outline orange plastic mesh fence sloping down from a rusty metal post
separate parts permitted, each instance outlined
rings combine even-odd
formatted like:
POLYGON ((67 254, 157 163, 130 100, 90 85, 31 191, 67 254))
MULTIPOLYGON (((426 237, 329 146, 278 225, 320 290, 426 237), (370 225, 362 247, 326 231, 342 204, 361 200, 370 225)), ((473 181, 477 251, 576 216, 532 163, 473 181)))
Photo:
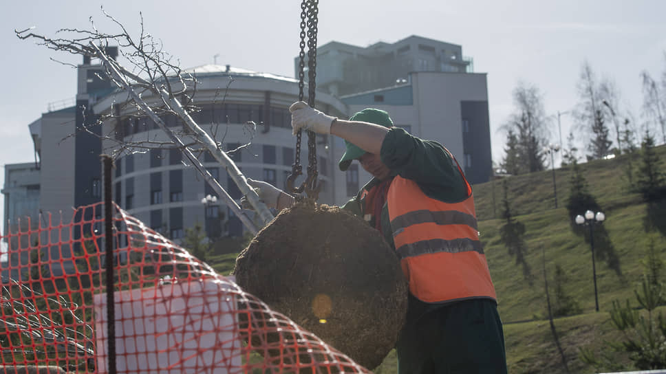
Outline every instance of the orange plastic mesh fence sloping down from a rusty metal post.
MULTIPOLYGON (((17 222, 2 268, 3 366, 107 373, 103 203, 17 222), (34 226, 32 225, 34 223, 34 226)), ((118 373, 368 373, 114 205, 118 373)))

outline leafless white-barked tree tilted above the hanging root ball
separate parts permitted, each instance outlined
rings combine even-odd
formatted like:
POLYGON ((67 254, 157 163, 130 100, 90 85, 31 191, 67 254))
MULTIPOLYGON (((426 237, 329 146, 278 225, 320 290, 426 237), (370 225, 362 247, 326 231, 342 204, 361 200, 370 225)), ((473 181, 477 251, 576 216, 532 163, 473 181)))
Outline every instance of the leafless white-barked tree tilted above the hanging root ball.
MULTIPOLYGON (((169 141, 152 142, 150 139, 144 139, 127 143, 125 140, 118 140, 114 133, 103 133, 101 135, 103 139, 114 142, 119 151, 145 150, 164 146, 180 148, 189 163, 241 219, 246 228, 256 234, 257 227, 253 220, 208 173, 197 157, 202 151, 210 153, 226 168, 228 175, 241 193, 247 197, 250 205, 259 213, 264 224, 273 218, 266 205, 259 200, 257 192, 247 184, 246 177, 228 154, 222 151, 221 143, 214 139, 214 134, 204 131, 193 120, 191 115, 198 110, 192 104, 192 98, 197 90, 195 75, 181 69, 178 60, 164 52, 161 41, 145 32, 142 17, 140 18, 140 32, 136 38, 133 38, 122 23, 103 9, 102 12, 106 19, 116 25, 118 32, 114 34, 100 32, 92 19, 90 30, 65 28, 58 30, 57 37, 54 38, 34 34, 31 29, 15 30, 15 32, 20 39, 34 39, 37 44, 50 50, 98 59, 105 68, 106 77, 121 89, 125 96, 117 94, 111 114, 102 115, 95 126, 101 126, 105 121, 113 119, 122 109, 129 106, 133 107, 136 115, 150 118, 159 129, 167 134, 169 141), (120 47, 125 65, 108 53, 109 45, 120 47), (167 126, 164 121, 169 116, 178 118, 178 126, 167 126)), ((87 130, 89 131, 89 129, 87 130)), ((91 131, 91 133, 94 132, 91 131)))

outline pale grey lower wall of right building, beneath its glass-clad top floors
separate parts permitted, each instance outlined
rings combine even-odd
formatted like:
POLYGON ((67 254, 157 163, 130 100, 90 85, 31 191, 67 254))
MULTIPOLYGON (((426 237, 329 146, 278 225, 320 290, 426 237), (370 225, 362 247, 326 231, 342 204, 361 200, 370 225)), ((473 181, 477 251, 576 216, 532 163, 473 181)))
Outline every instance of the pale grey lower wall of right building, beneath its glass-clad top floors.
MULTIPOLYGON (((470 183, 488 181, 492 160, 486 75, 413 72, 409 77, 411 98, 396 95, 397 90, 406 91, 405 87, 345 96, 343 101, 349 105, 350 113, 367 107, 387 111, 396 126, 446 146, 470 183), (469 133, 464 133, 463 120, 468 122, 469 133), (466 168, 466 159, 471 160, 469 168, 466 168)), ((370 175, 363 170, 359 175, 363 186, 370 175)), ((338 186, 341 183, 343 181, 339 181, 338 186)))

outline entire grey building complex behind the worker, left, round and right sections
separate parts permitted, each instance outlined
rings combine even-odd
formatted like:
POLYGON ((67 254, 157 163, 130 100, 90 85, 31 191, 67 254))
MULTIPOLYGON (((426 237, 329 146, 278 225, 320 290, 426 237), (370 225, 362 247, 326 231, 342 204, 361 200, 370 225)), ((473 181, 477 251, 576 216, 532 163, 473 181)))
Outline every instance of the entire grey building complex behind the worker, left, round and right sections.
MULTIPOLYGON (((109 52, 117 54, 114 49, 109 52)), ((62 211, 67 219, 72 208, 100 201, 103 191, 98 155, 113 153, 118 141, 167 141, 162 131, 147 118, 137 116, 131 106, 114 113, 120 118, 105 122, 104 129, 89 126, 99 115, 110 113, 114 100, 117 103, 122 98, 109 81, 100 79, 102 69, 84 58, 78 66, 73 105, 44 113, 30 125, 39 155, 39 173, 34 174, 38 177, 33 175, 39 178, 35 184, 39 185, 39 192, 30 187, 32 201, 34 194, 39 194, 36 211, 62 211), (98 137, 102 133, 115 134, 115 140, 103 144, 98 137)), ((460 45, 419 36, 366 48, 331 42, 319 47, 316 69, 318 109, 341 118, 365 107, 385 109, 396 125, 447 146, 472 183, 488 180, 491 151, 486 76, 469 73, 471 60, 462 57, 460 45)), ((225 150, 248 144, 232 155, 246 176, 284 188, 294 161, 295 140, 288 107, 297 100, 297 80, 228 65, 204 65, 191 72, 196 72, 199 80, 193 104, 200 111, 193 115, 195 120, 216 134, 225 150), (229 85, 230 80, 233 82, 229 85), (249 126, 247 121, 256 126, 249 126)), ((178 123, 167 118, 167 124, 178 123)), ((319 136, 317 143, 323 182, 319 201, 344 203, 369 175, 358 165, 346 175, 339 173, 337 160, 344 151, 342 140, 319 136)), ((305 144, 304 135, 304 169, 308 164, 305 144)), ((202 153, 202 157, 220 184, 239 199, 224 168, 207 153, 202 153)), ((211 237, 239 234, 239 220, 222 201, 202 203, 203 197, 214 195, 213 190, 185 164, 180 151, 167 145, 149 151, 122 152, 116 159, 114 199, 173 239, 197 222, 211 237)), ((12 170, 12 166, 6 170, 12 170)), ((8 184, 10 180, 6 177, 3 188, 9 201, 19 197, 18 192, 11 192, 14 190, 8 184)), ((28 196, 28 187, 22 188, 21 194, 28 196)), ((14 217, 11 214, 24 214, 10 214, 7 209, 5 221, 14 217)))

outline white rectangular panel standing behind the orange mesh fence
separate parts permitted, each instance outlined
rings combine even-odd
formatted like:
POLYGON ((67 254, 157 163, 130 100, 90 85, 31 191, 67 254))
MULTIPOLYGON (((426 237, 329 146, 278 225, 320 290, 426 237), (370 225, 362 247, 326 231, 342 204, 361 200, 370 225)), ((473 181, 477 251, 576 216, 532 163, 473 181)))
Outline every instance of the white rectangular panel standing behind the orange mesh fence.
MULTIPOLYGON (((242 373, 235 296, 215 279, 116 292, 118 373, 242 373)), ((107 295, 94 297, 97 371, 107 373, 107 295)))

